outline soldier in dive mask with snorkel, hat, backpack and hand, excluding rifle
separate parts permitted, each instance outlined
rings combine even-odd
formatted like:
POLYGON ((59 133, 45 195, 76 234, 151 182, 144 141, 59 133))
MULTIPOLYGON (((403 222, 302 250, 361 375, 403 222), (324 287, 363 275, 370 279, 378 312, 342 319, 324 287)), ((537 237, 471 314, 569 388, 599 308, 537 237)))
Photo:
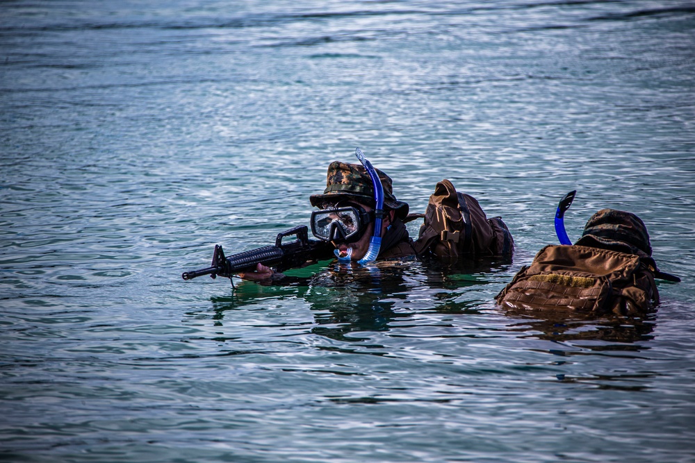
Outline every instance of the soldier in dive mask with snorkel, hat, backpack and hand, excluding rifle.
MULTIPOLYGON (((338 262, 365 265, 432 256, 453 264, 459 255, 512 255, 514 240, 502 219, 487 219, 475 198, 456 192, 449 180, 437 183, 425 214, 409 214, 409 205, 393 194, 391 177, 375 169, 359 149, 355 155, 361 165, 332 162, 324 192, 309 197, 320 208, 311 214, 311 232, 334 246, 338 262), (417 218, 424 223, 413 240, 405 224, 417 218)), ((284 278, 263 264, 238 276, 266 283, 284 278)))

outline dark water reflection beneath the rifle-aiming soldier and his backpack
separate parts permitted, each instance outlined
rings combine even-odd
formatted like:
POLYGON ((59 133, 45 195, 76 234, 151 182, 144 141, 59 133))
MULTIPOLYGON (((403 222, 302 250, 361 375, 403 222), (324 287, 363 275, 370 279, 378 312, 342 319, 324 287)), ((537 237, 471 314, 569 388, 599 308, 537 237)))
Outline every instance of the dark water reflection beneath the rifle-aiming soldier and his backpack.
POLYGON ((313 276, 291 280, 290 285, 237 283, 229 296, 211 298, 213 319, 221 325, 228 310, 265 310, 268 301, 297 298, 311 309, 316 323, 311 333, 341 342, 361 341, 367 336, 359 332, 388 331, 394 322, 398 328, 409 328, 408 321, 423 313, 480 313, 480 301, 471 301, 466 292, 489 285, 489 271, 498 264, 493 260, 455 266, 416 260, 378 262, 372 267, 333 263, 313 276))

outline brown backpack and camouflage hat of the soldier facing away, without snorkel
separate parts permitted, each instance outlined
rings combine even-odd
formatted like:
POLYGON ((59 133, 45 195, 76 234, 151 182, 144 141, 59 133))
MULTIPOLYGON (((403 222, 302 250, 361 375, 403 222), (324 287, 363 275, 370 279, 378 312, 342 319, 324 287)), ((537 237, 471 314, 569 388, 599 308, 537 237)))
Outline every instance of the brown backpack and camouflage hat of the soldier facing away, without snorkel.
POLYGON ((680 281, 657 269, 644 222, 631 212, 592 215, 573 246, 546 246, 497 302, 511 310, 644 314, 659 303, 654 279, 680 281))

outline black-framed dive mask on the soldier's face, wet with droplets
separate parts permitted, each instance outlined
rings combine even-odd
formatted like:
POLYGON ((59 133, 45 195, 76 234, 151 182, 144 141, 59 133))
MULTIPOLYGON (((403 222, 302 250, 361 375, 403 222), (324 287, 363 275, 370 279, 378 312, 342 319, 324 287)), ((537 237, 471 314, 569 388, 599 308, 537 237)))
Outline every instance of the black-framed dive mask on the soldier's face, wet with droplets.
POLYGON ((373 213, 359 205, 311 212, 311 233, 334 243, 354 243, 364 235, 373 213))

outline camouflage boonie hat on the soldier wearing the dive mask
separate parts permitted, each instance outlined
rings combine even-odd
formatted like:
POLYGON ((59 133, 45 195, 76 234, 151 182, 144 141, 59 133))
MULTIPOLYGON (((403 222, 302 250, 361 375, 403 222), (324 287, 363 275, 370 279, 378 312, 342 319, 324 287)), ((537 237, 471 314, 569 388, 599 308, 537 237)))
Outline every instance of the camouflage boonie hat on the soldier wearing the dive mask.
MULTIPOLYGON (((382 187, 384 187, 384 205, 395 210, 396 217, 403 219, 408 215, 408 204, 398 201, 393 196, 391 177, 379 169, 375 169, 375 171, 377 171, 379 180, 382 180, 382 187)), ((340 161, 331 162, 328 166, 326 189, 323 194, 309 196, 311 205, 316 207, 323 207, 326 203, 335 203, 341 199, 352 199, 371 208, 376 206, 372 179, 361 165, 340 161)))

